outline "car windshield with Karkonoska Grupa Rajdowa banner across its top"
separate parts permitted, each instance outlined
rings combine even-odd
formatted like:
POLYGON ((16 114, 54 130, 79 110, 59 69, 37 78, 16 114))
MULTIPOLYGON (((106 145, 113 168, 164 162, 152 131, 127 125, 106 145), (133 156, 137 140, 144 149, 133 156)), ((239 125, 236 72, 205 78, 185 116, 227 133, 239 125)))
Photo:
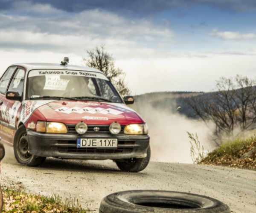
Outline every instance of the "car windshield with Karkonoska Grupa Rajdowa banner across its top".
POLYGON ((30 71, 26 98, 73 98, 122 103, 118 92, 105 75, 73 70, 30 71))

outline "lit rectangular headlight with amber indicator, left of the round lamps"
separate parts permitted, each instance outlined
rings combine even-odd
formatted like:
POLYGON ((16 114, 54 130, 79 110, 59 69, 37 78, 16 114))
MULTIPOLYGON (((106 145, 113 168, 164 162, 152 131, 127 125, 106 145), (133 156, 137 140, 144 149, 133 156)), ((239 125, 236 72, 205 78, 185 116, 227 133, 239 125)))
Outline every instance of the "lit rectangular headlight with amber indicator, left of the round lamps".
POLYGON ((67 127, 65 124, 59 122, 38 121, 36 123, 36 131, 47 133, 67 133, 67 127))

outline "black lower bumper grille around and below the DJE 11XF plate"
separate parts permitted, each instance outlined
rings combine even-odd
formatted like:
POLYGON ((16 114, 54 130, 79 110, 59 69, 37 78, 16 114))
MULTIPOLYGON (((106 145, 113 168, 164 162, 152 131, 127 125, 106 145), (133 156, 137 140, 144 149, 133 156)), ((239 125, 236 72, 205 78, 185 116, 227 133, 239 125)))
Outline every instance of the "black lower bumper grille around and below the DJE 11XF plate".
POLYGON ((61 153, 131 153, 134 150, 132 145, 135 144, 135 141, 118 141, 118 146, 115 149, 113 148, 77 148, 76 140, 70 141, 57 141, 60 145, 58 151, 61 153), (65 147, 61 147, 61 144, 65 144, 65 147), (68 146, 67 144, 70 144, 68 146), (131 145, 131 147, 122 147, 122 145, 131 145))

